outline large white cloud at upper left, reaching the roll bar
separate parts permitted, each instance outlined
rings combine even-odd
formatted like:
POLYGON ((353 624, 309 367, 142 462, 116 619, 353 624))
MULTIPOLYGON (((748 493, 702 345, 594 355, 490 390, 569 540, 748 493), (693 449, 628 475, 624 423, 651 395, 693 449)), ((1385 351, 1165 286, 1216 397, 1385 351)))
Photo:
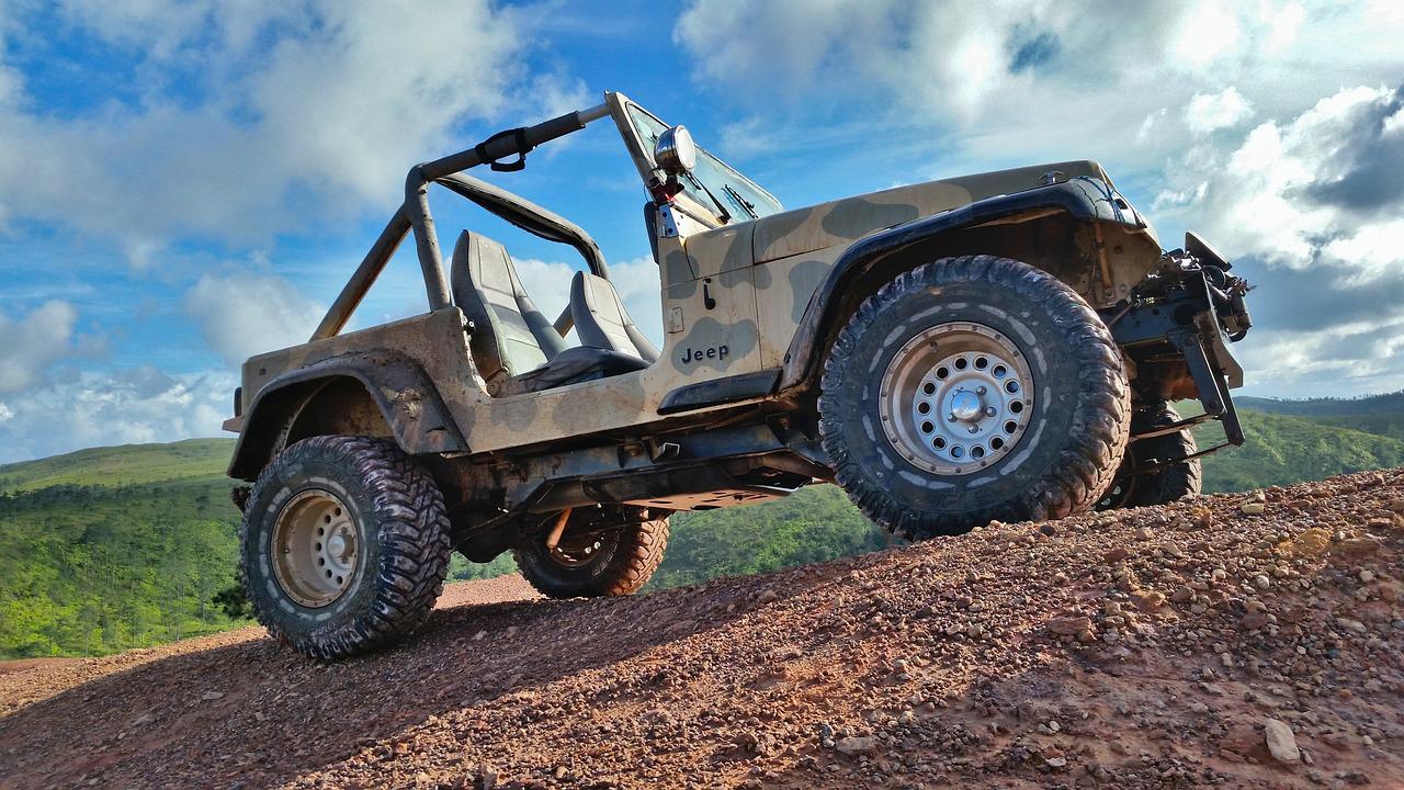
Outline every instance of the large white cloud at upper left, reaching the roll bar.
POLYGON ((65 8, 138 55, 140 101, 51 114, 0 69, 0 216, 111 238, 138 264, 173 236, 263 242, 388 211, 411 163, 526 93, 522 31, 487 0, 65 8))

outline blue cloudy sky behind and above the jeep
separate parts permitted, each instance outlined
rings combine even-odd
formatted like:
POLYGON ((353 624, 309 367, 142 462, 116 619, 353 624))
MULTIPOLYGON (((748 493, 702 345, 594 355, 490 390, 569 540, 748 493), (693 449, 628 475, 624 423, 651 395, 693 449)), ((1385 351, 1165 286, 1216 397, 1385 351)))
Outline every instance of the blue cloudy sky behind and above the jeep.
MULTIPOLYGON (((616 90, 802 207, 1097 159, 1257 285, 1247 394, 1404 388, 1404 3, 0 0, 0 462, 220 436, 416 162, 616 90)), ((475 171, 475 174, 477 174, 475 171)), ((608 124, 486 177, 584 226, 660 332, 608 124)), ((501 240, 543 312, 578 257, 501 240)), ((423 312, 406 245, 352 326, 423 312)))

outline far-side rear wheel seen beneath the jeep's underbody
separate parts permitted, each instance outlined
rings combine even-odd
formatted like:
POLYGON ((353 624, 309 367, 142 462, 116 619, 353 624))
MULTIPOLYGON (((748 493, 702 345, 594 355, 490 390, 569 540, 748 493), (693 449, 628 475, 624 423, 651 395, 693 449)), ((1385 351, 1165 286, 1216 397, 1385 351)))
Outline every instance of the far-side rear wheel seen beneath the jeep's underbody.
POLYGON ((658 569, 668 548, 668 520, 566 533, 556 550, 545 536, 512 550, 517 568, 546 597, 630 595, 658 569))

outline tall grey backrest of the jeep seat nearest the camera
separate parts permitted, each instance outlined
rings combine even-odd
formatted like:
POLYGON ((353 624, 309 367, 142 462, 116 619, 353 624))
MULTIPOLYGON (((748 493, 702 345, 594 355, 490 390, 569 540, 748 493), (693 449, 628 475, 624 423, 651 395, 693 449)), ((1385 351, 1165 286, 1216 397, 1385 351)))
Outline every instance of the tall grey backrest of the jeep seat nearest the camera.
POLYGON ((453 246, 453 301, 473 323, 469 347, 486 381, 541 367, 566 344, 522 288, 503 245, 463 231, 453 246))

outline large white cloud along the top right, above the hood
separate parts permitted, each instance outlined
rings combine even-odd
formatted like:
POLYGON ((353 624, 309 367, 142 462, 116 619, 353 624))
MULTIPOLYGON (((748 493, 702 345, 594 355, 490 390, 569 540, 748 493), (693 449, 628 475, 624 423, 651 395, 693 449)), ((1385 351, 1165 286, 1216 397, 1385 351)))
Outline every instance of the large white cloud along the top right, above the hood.
POLYGON ((1097 156, 1120 173, 1188 145, 1185 129, 1157 122, 1161 107, 1237 94, 1259 117, 1296 114, 1342 84, 1397 82, 1401 37, 1404 14, 1389 3, 1273 0, 1031 0, 979 13, 956 0, 826 0, 803 14, 695 0, 674 28, 696 84, 781 139, 861 121, 889 146, 925 141, 938 164, 1097 156))

